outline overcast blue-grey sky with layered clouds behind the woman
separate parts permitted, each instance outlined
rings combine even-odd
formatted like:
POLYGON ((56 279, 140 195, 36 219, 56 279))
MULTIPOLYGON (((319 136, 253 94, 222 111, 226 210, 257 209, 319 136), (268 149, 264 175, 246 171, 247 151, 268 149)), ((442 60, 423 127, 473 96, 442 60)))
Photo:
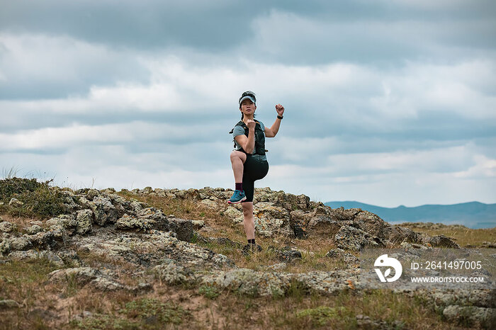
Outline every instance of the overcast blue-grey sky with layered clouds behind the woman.
POLYGON ((385 207, 496 203, 493 0, 0 0, 0 168, 72 188, 256 186, 385 207))

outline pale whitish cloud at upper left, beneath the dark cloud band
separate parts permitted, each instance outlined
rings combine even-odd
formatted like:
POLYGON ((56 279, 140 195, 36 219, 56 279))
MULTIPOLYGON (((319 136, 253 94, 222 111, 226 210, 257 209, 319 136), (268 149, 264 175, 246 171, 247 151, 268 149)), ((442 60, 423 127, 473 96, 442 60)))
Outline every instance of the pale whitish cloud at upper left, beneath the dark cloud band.
POLYGON ((66 98, 84 95, 93 85, 145 82, 150 76, 136 54, 71 38, 0 33, 0 46, 0 99, 66 98))

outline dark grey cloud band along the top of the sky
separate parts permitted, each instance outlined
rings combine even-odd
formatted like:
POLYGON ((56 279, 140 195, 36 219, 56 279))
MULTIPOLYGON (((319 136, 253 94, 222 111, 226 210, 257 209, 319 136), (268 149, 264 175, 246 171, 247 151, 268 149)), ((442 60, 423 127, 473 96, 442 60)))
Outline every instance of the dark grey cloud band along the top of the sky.
MULTIPOLYGON (((69 34, 91 42, 142 49, 185 45, 214 53, 247 42, 257 32, 251 30, 252 20, 271 11, 337 23, 375 19, 395 22, 422 16, 428 21, 441 20, 440 27, 442 21, 455 18, 469 27, 481 18, 492 21, 496 7, 490 0, 434 6, 434 9, 363 0, 258 0, 250 4, 245 1, 119 1, 118 6, 114 1, 2 2, 0 28, 3 30, 69 34)), ((361 32, 368 33, 367 30, 361 32)), ((381 41, 370 37, 365 36, 361 41, 381 41)))

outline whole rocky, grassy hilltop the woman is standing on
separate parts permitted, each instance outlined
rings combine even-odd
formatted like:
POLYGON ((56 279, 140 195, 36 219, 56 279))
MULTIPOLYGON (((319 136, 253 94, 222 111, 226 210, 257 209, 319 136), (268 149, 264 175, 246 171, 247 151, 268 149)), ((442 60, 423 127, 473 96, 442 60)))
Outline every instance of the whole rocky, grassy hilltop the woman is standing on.
POLYGON ((208 300, 221 296, 215 313, 226 326, 248 319, 243 313, 227 319, 222 309, 232 306, 223 304, 231 302, 239 308, 249 299, 266 306, 265 312, 252 311, 259 317, 257 324, 247 326, 253 329, 269 326, 271 318, 282 326, 301 328, 339 324, 394 329, 427 322, 443 329, 460 322, 472 326, 494 322, 495 290, 439 285, 432 291, 410 284, 384 294, 375 273, 361 270, 362 249, 398 248, 403 254, 436 246, 460 250, 449 237, 393 226, 366 210, 332 209, 305 195, 257 188, 254 215, 263 251, 246 256, 241 249, 245 240, 241 206, 225 203, 231 194, 230 189, 209 187, 116 192, 49 187, 22 179, 0 181, 4 264, 0 280, 11 278, 9 269, 23 269, 23 275, 17 275, 23 278, 33 270, 30 265, 37 265, 41 283, 27 278, 23 285, 33 292, 45 291, 26 297, 22 290, 13 290, 14 282, 4 282, 0 294, 9 298, 4 304, 11 307, 0 312, 2 318, 9 324, 26 322, 14 311, 28 320, 36 309, 42 315, 40 322, 55 327, 154 328, 168 323, 202 329, 203 321, 195 320, 207 319, 208 300), (40 198, 47 195, 50 200, 40 198), (29 216, 17 216, 23 212, 29 216), (45 271, 40 273, 41 269, 45 271), (96 292, 102 304, 113 307, 85 298, 96 292), (178 295, 201 303, 191 305, 178 295), (232 302, 239 296, 242 300, 232 302), (346 298, 325 305, 335 297, 346 298), (395 309, 396 316, 363 307, 369 299, 395 309), (393 303, 398 300, 403 303, 393 303), (149 307, 140 309, 143 304, 149 307), (283 310, 297 309, 299 314, 284 319, 274 304, 283 310), (155 310, 154 319, 145 314, 150 308, 155 310), (317 321, 315 315, 322 310, 327 317, 317 321), (408 317, 412 310, 415 315, 408 317))

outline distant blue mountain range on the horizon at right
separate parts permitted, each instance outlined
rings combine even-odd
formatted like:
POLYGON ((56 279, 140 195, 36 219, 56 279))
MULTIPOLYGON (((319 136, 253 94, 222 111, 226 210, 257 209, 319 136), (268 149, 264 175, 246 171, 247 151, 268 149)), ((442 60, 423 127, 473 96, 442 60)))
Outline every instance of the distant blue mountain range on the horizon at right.
POLYGON ((469 228, 496 227, 496 204, 479 202, 453 205, 422 205, 416 207, 381 207, 359 202, 327 202, 332 208, 361 208, 375 213, 383 220, 396 224, 401 222, 441 222, 463 224, 469 228))

